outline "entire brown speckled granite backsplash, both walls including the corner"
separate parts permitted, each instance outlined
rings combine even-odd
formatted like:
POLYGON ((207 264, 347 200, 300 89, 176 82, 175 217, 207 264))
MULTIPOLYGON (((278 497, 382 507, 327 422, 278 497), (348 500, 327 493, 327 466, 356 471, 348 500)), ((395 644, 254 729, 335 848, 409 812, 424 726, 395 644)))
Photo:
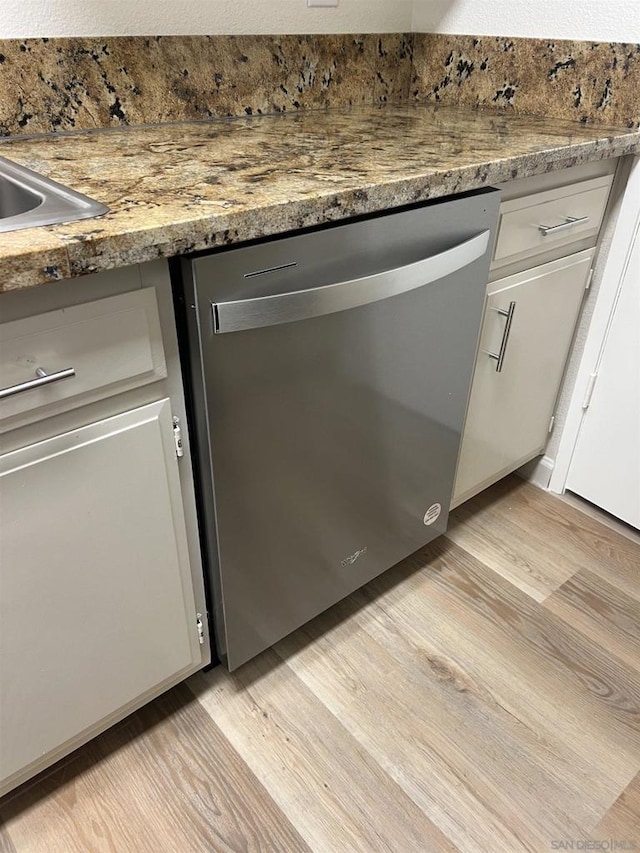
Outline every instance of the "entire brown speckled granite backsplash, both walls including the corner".
POLYGON ((640 45, 387 33, 0 40, 0 136, 406 100, 640 125, 640 45))

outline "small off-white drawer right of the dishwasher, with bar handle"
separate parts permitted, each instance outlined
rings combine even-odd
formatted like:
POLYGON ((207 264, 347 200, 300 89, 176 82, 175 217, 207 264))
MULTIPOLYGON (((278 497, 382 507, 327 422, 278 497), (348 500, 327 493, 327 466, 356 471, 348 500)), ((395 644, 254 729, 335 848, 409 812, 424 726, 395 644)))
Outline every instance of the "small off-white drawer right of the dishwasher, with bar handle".
POLYGON ((595 246, 613 175, 503 202, 494 265, 592 238, 595 246))

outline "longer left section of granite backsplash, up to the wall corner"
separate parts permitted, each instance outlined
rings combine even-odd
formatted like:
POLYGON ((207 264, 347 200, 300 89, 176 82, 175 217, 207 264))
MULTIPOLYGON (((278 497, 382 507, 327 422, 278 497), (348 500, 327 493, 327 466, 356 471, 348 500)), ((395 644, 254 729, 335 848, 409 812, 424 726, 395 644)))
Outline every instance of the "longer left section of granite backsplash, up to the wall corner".
POLYGON ((0 40, 0 136, 405 100, 412 35, 0 40))

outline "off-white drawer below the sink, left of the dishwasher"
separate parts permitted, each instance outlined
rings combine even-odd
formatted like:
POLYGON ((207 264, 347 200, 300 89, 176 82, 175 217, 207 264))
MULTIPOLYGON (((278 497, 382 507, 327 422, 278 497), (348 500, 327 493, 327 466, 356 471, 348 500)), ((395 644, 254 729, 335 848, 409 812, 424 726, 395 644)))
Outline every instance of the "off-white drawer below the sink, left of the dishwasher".
POLYGON ((0 431, 166 375, 153 288, 5 323, 0 431))

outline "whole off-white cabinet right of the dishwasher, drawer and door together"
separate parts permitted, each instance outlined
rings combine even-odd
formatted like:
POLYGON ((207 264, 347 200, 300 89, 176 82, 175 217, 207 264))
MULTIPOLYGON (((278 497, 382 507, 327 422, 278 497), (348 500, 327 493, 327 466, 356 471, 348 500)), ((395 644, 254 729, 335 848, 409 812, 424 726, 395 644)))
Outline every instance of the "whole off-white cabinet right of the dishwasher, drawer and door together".
POLYGON ((500 186, 452 507, 547 445, 616 168, 598 161, 500 186))

